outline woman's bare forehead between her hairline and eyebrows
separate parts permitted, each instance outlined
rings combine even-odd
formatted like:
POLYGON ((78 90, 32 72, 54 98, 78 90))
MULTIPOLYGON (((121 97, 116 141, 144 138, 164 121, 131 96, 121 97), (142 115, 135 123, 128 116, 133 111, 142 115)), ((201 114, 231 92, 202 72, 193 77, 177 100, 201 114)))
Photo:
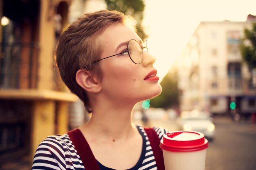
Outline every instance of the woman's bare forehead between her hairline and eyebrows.
POLYGON ((134 30, 121 23, 109 25, 99 36, 100 44, 102 46, 106 45, 107 48, 110 48, 110 46, 116 48, 120 43, 129 41, 130 39, 141 41, 134 30))

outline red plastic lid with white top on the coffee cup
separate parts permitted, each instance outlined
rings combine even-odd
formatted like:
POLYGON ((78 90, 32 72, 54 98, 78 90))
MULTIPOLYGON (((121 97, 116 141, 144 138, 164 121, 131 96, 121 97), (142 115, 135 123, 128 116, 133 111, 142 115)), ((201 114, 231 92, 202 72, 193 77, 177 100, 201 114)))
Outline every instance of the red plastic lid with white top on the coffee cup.
POLYGON ((172 152, 192 152, 208 147, 204 134, 195 131, 174 131, 166 133, 160 141, 160 148, 172 152))

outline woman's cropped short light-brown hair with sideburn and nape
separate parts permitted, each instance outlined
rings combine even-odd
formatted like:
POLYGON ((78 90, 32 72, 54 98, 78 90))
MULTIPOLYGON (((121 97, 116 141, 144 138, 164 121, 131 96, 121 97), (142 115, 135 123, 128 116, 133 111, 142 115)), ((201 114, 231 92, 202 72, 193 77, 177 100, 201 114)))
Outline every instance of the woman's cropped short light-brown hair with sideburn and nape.
POLYGON ((93 61, 99 59, 101 48, 97 37, 101 31, 113 23, 126 24, 128 16, 117 11, 101 10, 86 13, 74 21, 61 34, 56 48, 56 63, 64 83, 84 103, 88 112, 90 101, 85 89, 76 82, 76 72, 87 68, 92 75, 101 79, 101 68, 93 61))

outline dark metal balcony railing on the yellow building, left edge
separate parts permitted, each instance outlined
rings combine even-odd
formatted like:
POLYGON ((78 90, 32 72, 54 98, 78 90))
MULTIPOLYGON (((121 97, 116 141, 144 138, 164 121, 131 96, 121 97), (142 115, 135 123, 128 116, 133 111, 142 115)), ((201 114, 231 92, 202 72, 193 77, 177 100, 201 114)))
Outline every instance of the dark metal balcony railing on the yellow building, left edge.
POLYGON ((13 42, 0 45, 0 88, 36 88, 39 44, 13 42))

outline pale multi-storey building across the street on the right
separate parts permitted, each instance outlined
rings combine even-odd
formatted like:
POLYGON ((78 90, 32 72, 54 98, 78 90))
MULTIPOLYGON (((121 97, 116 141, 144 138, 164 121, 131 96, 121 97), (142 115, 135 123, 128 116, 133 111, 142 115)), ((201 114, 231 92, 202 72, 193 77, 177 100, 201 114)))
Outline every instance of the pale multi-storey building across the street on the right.
POLYGON ((251 28, 252 22, 254 17, 199 24, 178 61, 181 111, 239 116, 256 111, 256 87, 239 47, 244 28, 251 28))

